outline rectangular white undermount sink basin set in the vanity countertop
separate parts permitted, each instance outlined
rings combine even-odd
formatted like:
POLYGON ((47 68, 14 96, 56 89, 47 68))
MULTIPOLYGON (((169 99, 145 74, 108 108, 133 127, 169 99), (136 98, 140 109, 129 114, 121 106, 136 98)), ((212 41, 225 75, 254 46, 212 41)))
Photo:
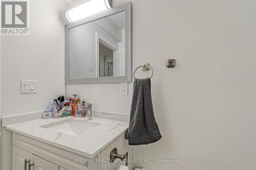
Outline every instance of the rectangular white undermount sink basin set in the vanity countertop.
POLYGON ((99 126, 98 123, 88 122, 86 120, 66 119, 55 123, 40 126, 55 132, 65 133, 68 135, 78 135, 89 129, 99 126))

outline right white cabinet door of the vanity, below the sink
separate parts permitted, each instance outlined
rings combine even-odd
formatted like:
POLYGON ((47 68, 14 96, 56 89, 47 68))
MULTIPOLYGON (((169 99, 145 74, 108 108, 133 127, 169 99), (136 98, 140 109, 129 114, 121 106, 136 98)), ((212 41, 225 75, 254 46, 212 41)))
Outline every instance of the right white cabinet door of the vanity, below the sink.
POLYGON ((45 159, 39 158, 35 155, 32 155, 31 170, 58 170, 59 166, 51 162, 48 162, 45 159))

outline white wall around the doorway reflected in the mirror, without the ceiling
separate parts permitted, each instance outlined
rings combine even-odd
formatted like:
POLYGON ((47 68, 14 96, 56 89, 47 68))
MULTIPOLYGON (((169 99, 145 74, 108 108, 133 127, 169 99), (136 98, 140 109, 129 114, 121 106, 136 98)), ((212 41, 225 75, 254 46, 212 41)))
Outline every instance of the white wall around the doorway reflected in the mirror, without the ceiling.
POLYGON ((113 35, 105 33, 93 22, 70 29, 70 78, 95 78, 97 76, 96 33, 108 40, 107 42, 118 46, 118 42, 115 41, 113 35), (89 71, 90 69, 92 72, 89 71))

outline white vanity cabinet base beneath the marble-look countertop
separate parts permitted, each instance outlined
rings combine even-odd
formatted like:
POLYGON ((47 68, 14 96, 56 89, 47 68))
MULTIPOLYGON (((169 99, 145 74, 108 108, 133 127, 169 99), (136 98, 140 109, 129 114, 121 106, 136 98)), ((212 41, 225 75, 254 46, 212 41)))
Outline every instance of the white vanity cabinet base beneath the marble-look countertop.
MULTIPOLYGON (((12 170, 117 170, 124 163, 105 161, 110 159, 110 153, 114 148, 117 148, 120 155, 128 152, 129 159, 133 159, 134 148, 128 145, 124 134, 91 159, 13 132, 12 170), (26 160, 30 162, 25 163, 26 160), (77 160, 94 160, 94 163, 77 162, 77 160)), ((133 169, 133 164, 129 163, 129 169, 133 169)))

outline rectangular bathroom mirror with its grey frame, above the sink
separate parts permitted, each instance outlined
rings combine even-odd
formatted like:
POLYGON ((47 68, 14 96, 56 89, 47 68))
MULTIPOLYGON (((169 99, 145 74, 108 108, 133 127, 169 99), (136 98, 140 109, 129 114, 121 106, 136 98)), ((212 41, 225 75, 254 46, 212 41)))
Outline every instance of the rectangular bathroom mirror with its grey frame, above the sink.
POLYGON ((66 25, 66 84, 132 81, 131 3, 66 25))

